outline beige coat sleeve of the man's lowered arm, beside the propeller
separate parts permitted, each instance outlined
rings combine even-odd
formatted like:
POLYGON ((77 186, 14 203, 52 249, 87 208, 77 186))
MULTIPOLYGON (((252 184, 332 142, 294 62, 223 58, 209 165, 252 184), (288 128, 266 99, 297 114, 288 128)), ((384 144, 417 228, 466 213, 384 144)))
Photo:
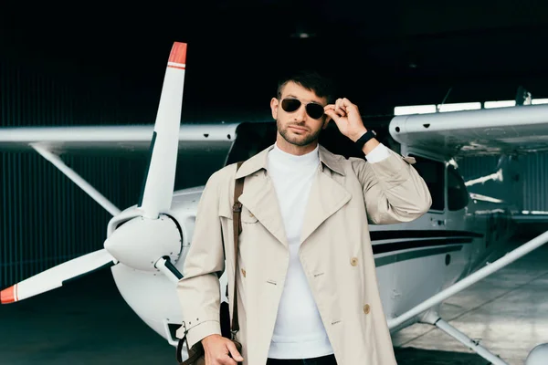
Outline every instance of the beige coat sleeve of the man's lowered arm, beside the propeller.
POLYGON ((225 270, 225 255, 218 214, 219 184, 217 172, 205 184, 192 244, 184 259, 183 278, 177 283, 183 326, 176 335, 181 339, 186 330, 191 348, 206 336, 221 334, 219 277, 225 270))

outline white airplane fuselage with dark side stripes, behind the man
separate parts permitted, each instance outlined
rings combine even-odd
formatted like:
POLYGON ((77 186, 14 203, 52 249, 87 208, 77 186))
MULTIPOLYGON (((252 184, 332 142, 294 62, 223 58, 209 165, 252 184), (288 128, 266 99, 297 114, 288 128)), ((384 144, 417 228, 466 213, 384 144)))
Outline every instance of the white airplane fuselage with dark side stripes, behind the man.
MULTIPOLYGON (((174 193, 169 214, 182 224, 183 252, 176 266, 183 271, 184 256, 190 248, 197 203, 203 186, 174 193)), ((500 248, 511 236, 511 211, 501 203, 476 202, 470 199, 467 212, 430 211, 411 223, 370 225, 374 245, 375 264, 385 314, 395 317, 415 307, 442 288, 466 276, 493 250, 500 248), (506 212, 501 214, 500 212, 506 212), (469 219, 465 214, 470 214, 469 219), (491 226, 508 226, 490 232, 491 226), (450 231, 450 232, 449 232, 450 231), (490 235, 487 234, 490 232, 490 235), (496 242, 486 243, 486 237, 498 235, 496 242), (449 257, 449 258, 448 258, 449 257)), ((136 206, 124 213, 131 214, 136 206)), ((114 232, 111 221, 109 234, 114 232)), ((492 238, 491 238, 492 239, 492 238)), ((158 273, 135 270, 122 264, 112 266, 112 275, 121 296, 132 309, 158 334, 173 345, 177 339, 174 330, 181 326, 179 298, 174 284, 158 273), (139 283, 139 284, 136 284, 139 283), (143 297, 143 293, 147 293, 143 297)), ((220 278, 221 288, 227 285, 227 276, 220 278)), ((225 291, 221 289, 224 301, 225 291)), ((399 330, 415 323, 406 323, 399 330)))

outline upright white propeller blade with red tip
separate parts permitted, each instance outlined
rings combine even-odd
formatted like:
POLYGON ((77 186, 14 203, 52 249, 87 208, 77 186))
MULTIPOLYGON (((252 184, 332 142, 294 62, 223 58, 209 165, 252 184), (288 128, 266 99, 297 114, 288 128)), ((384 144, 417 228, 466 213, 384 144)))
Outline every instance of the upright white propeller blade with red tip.
POLYGON ((171 208, 179 147, 185 62, 186 43, 175 42, 163 78, 162 95, 151 141, 151 160, 138 204, 146 218, 156 219, 158 214, 171 208))

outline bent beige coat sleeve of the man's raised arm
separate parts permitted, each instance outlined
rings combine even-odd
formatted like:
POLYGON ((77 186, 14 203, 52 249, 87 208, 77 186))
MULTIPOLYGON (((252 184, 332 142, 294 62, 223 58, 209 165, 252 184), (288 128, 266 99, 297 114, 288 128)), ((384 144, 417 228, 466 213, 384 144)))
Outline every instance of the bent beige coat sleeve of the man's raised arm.
POLYGON ((432 204, 427 184, 410 159, 388 151, 390 156, 380 162, 352 159, 371 224, 410 222, 427 213, 432 204))

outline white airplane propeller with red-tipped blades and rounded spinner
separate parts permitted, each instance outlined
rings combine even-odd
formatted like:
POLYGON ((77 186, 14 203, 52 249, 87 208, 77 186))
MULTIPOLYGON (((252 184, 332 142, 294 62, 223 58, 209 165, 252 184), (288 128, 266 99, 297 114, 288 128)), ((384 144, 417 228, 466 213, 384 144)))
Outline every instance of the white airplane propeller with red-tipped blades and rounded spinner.
MULTIPOLYGON (((177 150, 184 89, 186 44, 174 42, 165 76, 151 141, 150 162, 142 194, 131 219, 105 241, 104 248, 31 276, 0 292, 2 304, 34 297, 78 276, 118 264, 144 271, 160 270, 172 281, 182 277, 174 267, 181 252, 182 234, 172 216, 177 150)), ((121 220, 127 212, 111 219, 121 220)))

